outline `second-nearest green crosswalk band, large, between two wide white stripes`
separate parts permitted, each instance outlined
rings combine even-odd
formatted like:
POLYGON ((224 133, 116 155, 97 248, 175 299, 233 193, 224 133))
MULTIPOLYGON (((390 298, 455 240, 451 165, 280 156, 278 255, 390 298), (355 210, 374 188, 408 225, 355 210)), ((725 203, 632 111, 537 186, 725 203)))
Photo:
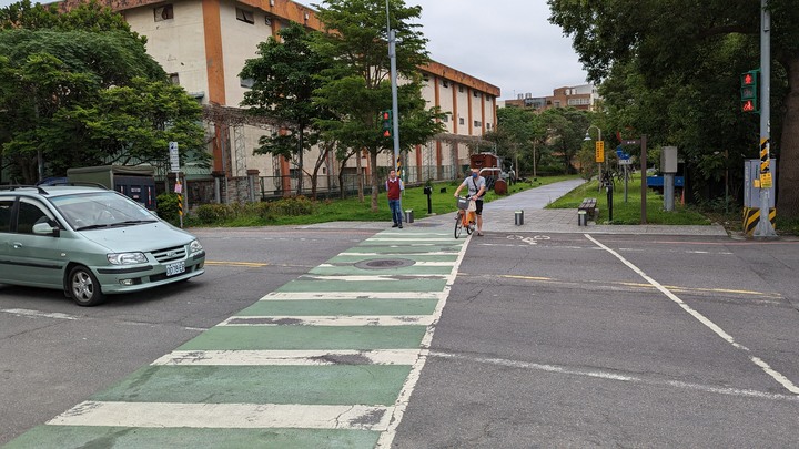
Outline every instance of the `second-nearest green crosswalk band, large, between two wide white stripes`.
POLYGON ((388 406, 409 371, 405 365, 146 366, 91 400, 388 406))

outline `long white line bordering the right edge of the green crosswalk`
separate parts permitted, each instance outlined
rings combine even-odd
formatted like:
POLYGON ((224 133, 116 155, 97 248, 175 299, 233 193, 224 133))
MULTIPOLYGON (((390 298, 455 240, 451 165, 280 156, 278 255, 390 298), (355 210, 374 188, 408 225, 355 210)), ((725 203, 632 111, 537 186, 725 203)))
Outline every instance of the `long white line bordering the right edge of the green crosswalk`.
POLYGON ((455 263, 455 266, 447 276, 446 286, 444 287, 444 292, 442 292, 438 303, 436 304, 435 312, 433 313, 433 324, 427 327, 427 331, 422 338, 422 351, 419 353, 419 357, 411 368, 411 373, 408 374, 407 379, 405 379, 405 384, 403 385, 402 390, 400 390, 400 396, 397 397, 396 402, 394 402, 394 410, 391 415, 388 428, 383 433, 381 433, 380 438, 377 439, 376 448, 390 449, 392 447, 392 443, 394 442, 396 430, 400 427, 400 422, 402 422, 403 416, 405 415, 405 409, 407 408, 408 401, 411 400, 411 395, 413 394, 413 390, 416 387, 416 382, 418 381, 419 376, 422 376, 422 369, 427 361, 427 355, 429 354, 429 345, 433 341, 433 333, 435 331, 436 324, 441 319, 447 297, 449 296, 452 286, 455 283, 455 278, 457 277, 458 267, 461 266, 461 263, 466 255, 466 248, 468 247, 472 239, 469 238, 464 242, 464 245, 458 253, 457 262, 455 263))

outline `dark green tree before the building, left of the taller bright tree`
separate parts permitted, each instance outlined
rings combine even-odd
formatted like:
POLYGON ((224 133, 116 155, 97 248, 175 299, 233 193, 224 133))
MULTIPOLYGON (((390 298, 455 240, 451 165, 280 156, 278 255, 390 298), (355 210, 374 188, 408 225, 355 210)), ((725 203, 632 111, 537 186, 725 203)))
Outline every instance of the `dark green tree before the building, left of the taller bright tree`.
MULTIPOLYGON (((259 58, 244 63, 241 78, 253 80, 253 86, 244 93, 242 106, 250 114, 281 120, 290 132, 261 136, 256 154, 282 155, 294 160, 300 173, 304 173, 305 152, 318 143, 320 130, 316 119, 327 119, 330 113, 313 101, 313 92, 322 85, 317 76, 328 67, 310 44, 305 29, 291 22, 280 32, 281 40, 269 38, 259 44, 259 58)), ((321 145, 320 157, 311 173, 312 195, 316 196, 316 180, 330 145, 321 145)), ((297 194, 303 190, 303 176, 297 182, 297 194)))

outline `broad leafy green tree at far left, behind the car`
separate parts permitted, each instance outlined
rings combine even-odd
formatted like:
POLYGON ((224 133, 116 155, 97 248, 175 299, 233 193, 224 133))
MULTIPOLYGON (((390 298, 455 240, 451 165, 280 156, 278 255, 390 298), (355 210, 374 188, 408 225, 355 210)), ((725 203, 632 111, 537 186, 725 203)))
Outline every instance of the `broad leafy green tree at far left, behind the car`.
POLYGON ((202 149, 196 102, 166 83, 144 40, 108 8, 0 9, 0 145, 22 182, 43 175, 41 161, 63 175, 121 157, 160 162, 169 140, 184 157, 202 149))

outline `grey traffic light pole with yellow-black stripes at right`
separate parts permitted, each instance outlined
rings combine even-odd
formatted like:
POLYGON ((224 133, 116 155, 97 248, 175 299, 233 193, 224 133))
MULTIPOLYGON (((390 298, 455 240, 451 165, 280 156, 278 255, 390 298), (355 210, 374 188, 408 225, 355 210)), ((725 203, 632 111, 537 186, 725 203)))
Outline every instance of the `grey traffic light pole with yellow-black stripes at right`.
POLYGON ((771 180, 769 171, 771 145, 771 13, 766 8, 767 0, 760 0, 760 221, 755 228, 755 237, 777 236, 771 226, 769 186, 763 185, 763 175, 771 180))

